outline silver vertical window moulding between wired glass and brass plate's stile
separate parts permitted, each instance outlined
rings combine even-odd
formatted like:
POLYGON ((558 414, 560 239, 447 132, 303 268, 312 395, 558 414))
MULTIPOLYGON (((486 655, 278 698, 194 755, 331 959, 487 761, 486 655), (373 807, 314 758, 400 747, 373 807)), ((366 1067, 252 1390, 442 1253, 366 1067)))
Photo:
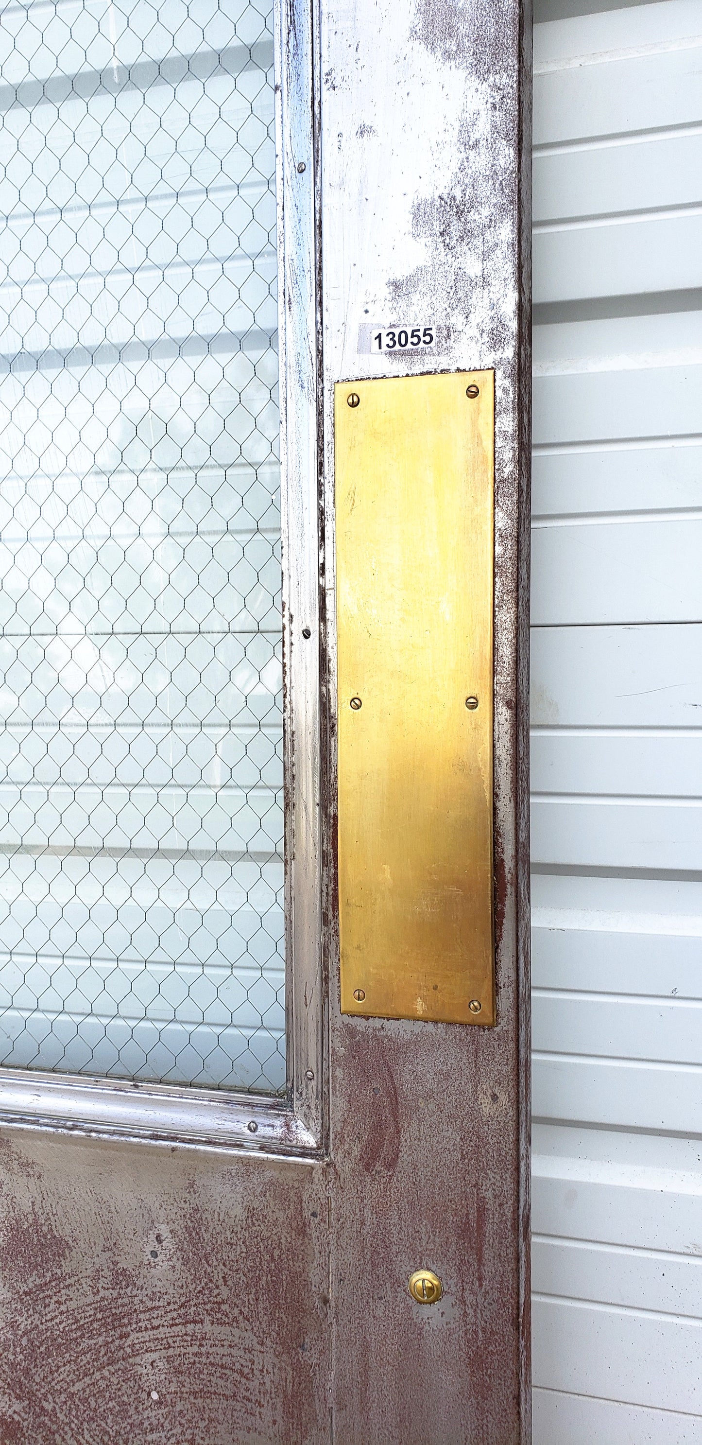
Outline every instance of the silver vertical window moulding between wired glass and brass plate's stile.
POLYGON ((276 0, 287 1090, 325 1114, 321 877, 318 88, 312 4, 276 0))

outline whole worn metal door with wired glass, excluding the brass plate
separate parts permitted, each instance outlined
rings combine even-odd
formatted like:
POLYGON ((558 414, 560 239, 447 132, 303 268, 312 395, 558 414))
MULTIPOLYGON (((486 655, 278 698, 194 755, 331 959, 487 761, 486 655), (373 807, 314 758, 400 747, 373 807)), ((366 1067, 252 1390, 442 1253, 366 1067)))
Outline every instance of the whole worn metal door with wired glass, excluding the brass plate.
POLYGON ((524 1442, 530 16, 3 29, 1 1438, 524 1442), (461 373, 494 1023, 339 994, 334 393, 461 373))

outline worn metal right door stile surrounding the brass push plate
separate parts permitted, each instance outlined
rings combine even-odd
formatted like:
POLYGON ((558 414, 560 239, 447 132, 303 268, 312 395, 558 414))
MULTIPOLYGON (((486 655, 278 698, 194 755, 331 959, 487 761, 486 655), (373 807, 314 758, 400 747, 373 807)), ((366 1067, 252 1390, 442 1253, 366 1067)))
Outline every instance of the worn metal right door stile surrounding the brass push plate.
MULTIPOLYGON (((527 27, 517 0, 332 0, 322 22, 328 483, 335 380, 494 367, 497 410, 498 1022, 341 1016, 329 945, 332 1403, 342 1445, 530 1439, 527 27), (433 322, 442 348, 432 367, 407 353, 358 353, 363 322, 433 322), (410 1299, 417 1266, 443 1280, 441 1303, 410 1299)), ((331 637, 332 559, 329 522, 331 637)), ((331 744, 334 798, 334 721, 331 744)))

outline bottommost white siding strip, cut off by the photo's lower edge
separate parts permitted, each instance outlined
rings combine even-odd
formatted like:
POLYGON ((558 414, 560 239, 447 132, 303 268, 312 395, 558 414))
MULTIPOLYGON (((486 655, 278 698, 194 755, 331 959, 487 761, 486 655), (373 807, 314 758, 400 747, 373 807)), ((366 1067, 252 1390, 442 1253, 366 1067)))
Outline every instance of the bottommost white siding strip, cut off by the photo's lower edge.
POLYGON ((534 1445, 702 1445, 702 1419, 677 1410, 536 1389, 534 1445))

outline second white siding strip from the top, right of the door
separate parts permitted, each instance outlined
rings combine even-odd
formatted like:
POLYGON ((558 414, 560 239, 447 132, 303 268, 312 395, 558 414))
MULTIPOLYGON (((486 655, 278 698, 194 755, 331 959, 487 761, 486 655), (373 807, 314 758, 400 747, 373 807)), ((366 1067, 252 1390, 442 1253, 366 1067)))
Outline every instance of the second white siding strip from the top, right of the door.
MULTIPOLYGON (((637 19, 644 9, 634 12, 637 19)), ((634 26, 630 20, 630 45, 631 36, 636 43, 634 26)), ((701 68, 702 43, 536 74, 534 144, 693 124, 699 120, 701 68)))

